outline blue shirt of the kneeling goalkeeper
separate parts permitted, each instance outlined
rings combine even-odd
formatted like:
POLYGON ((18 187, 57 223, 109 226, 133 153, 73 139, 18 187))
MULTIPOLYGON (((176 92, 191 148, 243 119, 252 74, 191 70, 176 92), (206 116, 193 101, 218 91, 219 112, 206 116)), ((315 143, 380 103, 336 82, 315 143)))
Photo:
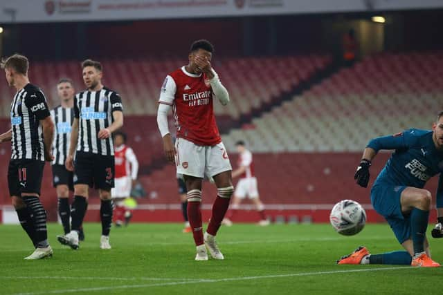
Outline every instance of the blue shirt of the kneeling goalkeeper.
MULTIPOLYGON (((386 149, 395 150, 376 184, 417 187, 443 171, 443 152, 435 148, 433 131, 409 129, 395 135, 377 137, 368 143, 376 152, 386 149)), ((443 176, 440 174, 437 189, 437 207, 443 207, 443 176)))

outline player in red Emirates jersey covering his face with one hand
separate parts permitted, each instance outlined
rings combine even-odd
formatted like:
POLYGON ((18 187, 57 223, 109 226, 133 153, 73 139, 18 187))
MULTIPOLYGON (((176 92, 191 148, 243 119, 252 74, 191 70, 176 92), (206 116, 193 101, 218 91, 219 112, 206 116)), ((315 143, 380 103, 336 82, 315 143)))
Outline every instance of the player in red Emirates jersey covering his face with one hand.
POLYGON ((234 189, 230 175, 232 167, 213 111, 214 98, 226 105, 229 94, 210 64, 213 52, 214 47, 207 40, 192 44, 188 66, 174 70, 163 82, 157 113, 166 157, 176 164, 177 173, 183 175, 188 189, 188 218, 197 246, 195 260, 208 260, 206 247, 213 258, 224 259, 215 235, 234 189), (177 127, 175 146, 168 129, 170 108, 177 127), (208 229, 203 234, 200 205, 201 183, 205 175, 214 179, 217 198, 208 229))

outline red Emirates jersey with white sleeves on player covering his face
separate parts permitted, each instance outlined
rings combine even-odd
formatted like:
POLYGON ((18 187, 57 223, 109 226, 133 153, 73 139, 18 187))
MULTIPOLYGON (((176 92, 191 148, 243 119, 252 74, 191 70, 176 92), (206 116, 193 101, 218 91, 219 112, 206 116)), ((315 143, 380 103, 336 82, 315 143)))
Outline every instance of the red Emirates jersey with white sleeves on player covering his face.
POLYGON ((159 103, 170 104, 177 137, 202 146, 221 142, 213 110, 213 91, 206 75, 188 73, 183 66, 166 77, 159 103))

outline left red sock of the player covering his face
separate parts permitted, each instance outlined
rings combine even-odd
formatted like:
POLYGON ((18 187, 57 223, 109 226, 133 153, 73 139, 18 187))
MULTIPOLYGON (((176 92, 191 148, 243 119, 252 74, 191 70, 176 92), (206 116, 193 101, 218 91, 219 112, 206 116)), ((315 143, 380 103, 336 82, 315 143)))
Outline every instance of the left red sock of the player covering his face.
POLYGON ((192 189, 188 191, 188 220, 192 228, 192 236, 196 246, 203 245, 203 225, 201 222, 201 191, 192 189))

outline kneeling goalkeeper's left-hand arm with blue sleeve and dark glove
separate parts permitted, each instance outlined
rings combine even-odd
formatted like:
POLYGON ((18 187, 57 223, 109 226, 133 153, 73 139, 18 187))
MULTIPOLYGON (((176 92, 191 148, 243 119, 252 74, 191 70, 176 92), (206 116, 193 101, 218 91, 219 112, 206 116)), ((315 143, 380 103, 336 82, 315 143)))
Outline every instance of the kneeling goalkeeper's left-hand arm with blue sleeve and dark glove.
POLYGON ((371 166, 372 160, 375 158, 380 150, 393 150, 393 149, 406 149, 408 147, 407 142, 408 134, 410 131, 405 131, 404 133, 397 133, 395 135, 388 135, 382 137, 376 137, 370 140, 365 150, 363 151, 363 156, 357 170, 354 174, 354 179, 357 184, 361 187, 368 187, 368 182, 370 178, 369 168, 371 166))

